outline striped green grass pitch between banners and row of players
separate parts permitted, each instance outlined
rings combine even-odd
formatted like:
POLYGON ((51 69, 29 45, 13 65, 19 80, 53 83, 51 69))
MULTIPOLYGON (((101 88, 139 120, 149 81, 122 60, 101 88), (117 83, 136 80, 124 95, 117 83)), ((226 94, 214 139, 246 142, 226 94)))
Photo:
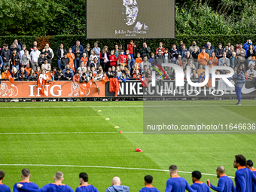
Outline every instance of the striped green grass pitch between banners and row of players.
MULTIPOLYGON (((207 115, 208 118, 200 119, 204 123, 209 123, 208 120, 256 123, 255 100, 243 100, 241 106, 235 103, 235 100, 173 101, 172 105, 177 107, 171 108, 170 114, 176 120, 184 115, 182 120, 187 124, 198 122, 200 117, 196 114, 207 115), (191 112, 190 108, 179 108, 181 105, 198 106, 191 112)), ((79 186, 78 174, 87 172, 89 183, 99 192, 111 186, 114 176, 119 176, 130 191, 139 191, 144 187, 145 175, 153 175, 154 187, 164 191, 169 172, 163 170, 171 164, 176 164, 182 171, 179 175, 192 184, 190 172, 215 174, 220 165, 226 168, 227 175, 234 176, 236 154, 256 163, 255 134, 143 134, 143 102, 0 103, 0 111, 0 169, 6 174, 4 184, 11 189, 21 180, 23 168, 30 169, 31 181, 39 187, 53 182, 54 173, 62 171, 63 183, 74 190, 79 186), (117 133, 119 130, 123 133, 117 133), (143 153, 135 152, 136 148, 143 153), (38 164, 42 166, 33 166, 38 164)), ((218 183, 215 175, 203 175, 201 180, 206 182, 208 178, 212 184, 218 183)))

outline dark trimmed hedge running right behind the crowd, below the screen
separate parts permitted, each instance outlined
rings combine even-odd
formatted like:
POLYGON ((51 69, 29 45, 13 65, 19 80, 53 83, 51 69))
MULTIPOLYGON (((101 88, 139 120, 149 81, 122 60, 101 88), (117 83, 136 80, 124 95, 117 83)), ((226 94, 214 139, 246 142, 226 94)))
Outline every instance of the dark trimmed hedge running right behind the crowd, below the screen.
MULTIPOLYGON (((115 44, 123 44, 129 40, 126 39, 88 39, 86 35, 55 35, 47 37, 36 37, 36 36, 0 36, 0 47, 2 44, 7 43, 11 44, 14 39, 18 39, 23 44, 26 44, 27 47, 32 47, 33 41, 38 41, 40 44, 41 40, 43 44, 45 41, 49 41, 50 47, 53 49, 54 54, 59 47, 59 44, 64 44, 64 47, 69 48, 75 45, 75 41, 81 41, 81 44, 86 47, 87 43, 90 43, 90 47, 93 47, 94 42, 98 41, 99 47, 108 46, 108 50, 114 49, 115 44)), ((177 44, 180 40, 186 44, 187 49, 192 45, 192 41, 197 41, 199 47, 203 47, 207 41, 210 41, 214 47, 218 47, 219 43, 227 44, 230 42, 235 45, 236 43, 245 43, 248 38, 251 38, 251 41, 256 39, 256 34, 252 35, 176 35, 175 39, 136 39, 135 43, 137 45, 136 51, 139 51, 139 48, 142 47, 142 42, 146 41, 148 47, 151 47, 151 50, 155 52, 156 48, 159 45, 159 42, 163 42, 163 47, 172 48, 172 44, 177 44)), ((53 58, 53 66, 56 66, 56 56, 53 58)))

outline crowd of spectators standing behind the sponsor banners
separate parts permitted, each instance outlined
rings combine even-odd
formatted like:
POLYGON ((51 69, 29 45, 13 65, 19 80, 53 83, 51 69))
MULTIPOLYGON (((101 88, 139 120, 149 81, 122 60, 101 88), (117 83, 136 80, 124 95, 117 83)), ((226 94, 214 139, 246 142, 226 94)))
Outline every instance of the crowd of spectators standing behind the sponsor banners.
MULTIPOLYGON (((26 44, 21 44, 15 39, 10 49, 8 44, 3 44, 0 50, 1 78, 8 80, 9 71, 14 81, 37 81, 41 72, 45 70, 53 72, 54 81, 72 81, 75 73, 78 73, 81 79, 84 77, 88 82, 91 77, 102 78, 105 72, 108 78, 114 77, 120 82, 125 82, 140 78, 151 79, 152 69, 158 69, 162 63, 181 66, 184 79, 187 78, 187 66, 190 66, 190 79, 197 81, 200 76, 205 75, 206 66, 209 66, 210 74, 212 66, 230 66, 235 73, 240 69, 246 80, 256 77, 256 53, 250 39, 235 45, 218 44, 218 48, 213 47, 210 42, 201 48, 197 46, 196 41, 193 41, 190 47, 179 41, 178 46, 173 44, 169 48, 160 42, 155 51, 144 42, 138 53, 135 53, 136 44, 133 40, 127 47, 116 44, 111 50, 108 50, 106 45, 101 49, 98 42, 93 46, 87 44, 84 48, 80 41, 76 41, 73 47, 60 44, 54 54, 49 44, 46 44, 43 50, 39 50, 37 41, 33 42, 32 48, 28 48, 26 44), (57 63, 52 62, 54 56, 57 57, 57 63)), ((167 79, 175 79, 175 70, 172 67, 163 69, 167 79)), ((157 79, 166 79, 163 72, 159 71, 162 74, 157 74, 157 79)), ((229 71, 218 70, 215 73, 226 74, 229 71)))

